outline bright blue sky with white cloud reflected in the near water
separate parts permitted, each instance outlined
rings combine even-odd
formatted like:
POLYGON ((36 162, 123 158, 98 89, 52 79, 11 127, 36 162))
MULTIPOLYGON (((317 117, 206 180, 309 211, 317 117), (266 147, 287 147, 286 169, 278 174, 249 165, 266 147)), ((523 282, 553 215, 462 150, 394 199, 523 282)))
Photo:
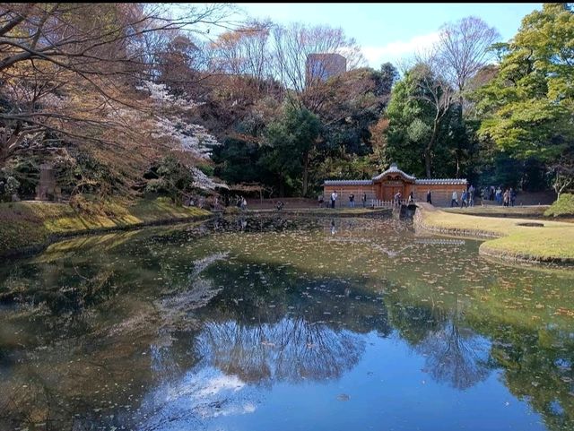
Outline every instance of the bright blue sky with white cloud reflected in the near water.
POLYGON ((138 429, 480 431, 518 423, 523 431, 544 429, 526 402, 500 385, 499 373, 483 375, 460 392, 429 374, 432 352, 418 354, 396 335, 371 332, 361 342, 365 350, 356 365, 320 381, 248 384, 213 366, 198 366, 145 397, 141 411, 148 418, 138 429))

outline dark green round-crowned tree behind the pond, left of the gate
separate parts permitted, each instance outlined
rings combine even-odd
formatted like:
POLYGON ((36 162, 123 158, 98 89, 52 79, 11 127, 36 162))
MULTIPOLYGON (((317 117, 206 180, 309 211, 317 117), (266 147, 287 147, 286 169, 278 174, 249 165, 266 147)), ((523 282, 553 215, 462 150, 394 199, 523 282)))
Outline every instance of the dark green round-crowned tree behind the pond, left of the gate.
POLYGON ((285 184, 294 185, 300 181, 301 194, 307 195, 309 186, 310 153, 316 146, 321 123, 317 116, 306 108, 295 108, 285 104, 283 115, 267 126, 265 145, 268 153, 260 163, 277 173, 280 193, 285 184))

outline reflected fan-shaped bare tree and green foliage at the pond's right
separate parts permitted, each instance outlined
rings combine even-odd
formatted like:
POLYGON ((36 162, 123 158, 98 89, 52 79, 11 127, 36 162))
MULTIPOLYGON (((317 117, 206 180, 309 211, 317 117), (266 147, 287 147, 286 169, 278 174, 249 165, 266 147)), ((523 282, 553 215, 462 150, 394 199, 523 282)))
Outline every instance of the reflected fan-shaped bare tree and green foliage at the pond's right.
POLYGON ((509 391, 540 413, 549 430, 574 429, 574 332, 552 325, 533 332, 469 318, 457 306, 413 306, 405 297, 388 297, 386 304, 390 323, 426 357, 426 371, 437 381, 464 390, 500 366, 509 391))

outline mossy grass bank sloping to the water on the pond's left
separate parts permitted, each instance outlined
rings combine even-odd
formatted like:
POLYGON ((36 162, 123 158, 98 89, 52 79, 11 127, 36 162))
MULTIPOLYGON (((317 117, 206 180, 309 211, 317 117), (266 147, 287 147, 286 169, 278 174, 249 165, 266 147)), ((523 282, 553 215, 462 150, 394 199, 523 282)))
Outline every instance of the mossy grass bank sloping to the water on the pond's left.
POLYGON ((41 246, 54 235, 126 228, 210 214, 199 208, 174 205, 166 198, 134 203, 116 199, 87 205, 84 211, 76 211, 67 203, 1 203, 0 255, 41 246))

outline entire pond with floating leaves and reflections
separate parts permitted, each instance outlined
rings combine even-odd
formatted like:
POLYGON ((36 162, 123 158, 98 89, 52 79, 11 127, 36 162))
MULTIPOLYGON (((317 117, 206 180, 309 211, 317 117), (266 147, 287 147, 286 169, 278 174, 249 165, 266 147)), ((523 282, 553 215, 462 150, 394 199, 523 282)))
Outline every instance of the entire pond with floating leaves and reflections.
POLYGON ((0 430, 572 430, 574 272, 400 220, 79 237, 0 265, 0 430))

